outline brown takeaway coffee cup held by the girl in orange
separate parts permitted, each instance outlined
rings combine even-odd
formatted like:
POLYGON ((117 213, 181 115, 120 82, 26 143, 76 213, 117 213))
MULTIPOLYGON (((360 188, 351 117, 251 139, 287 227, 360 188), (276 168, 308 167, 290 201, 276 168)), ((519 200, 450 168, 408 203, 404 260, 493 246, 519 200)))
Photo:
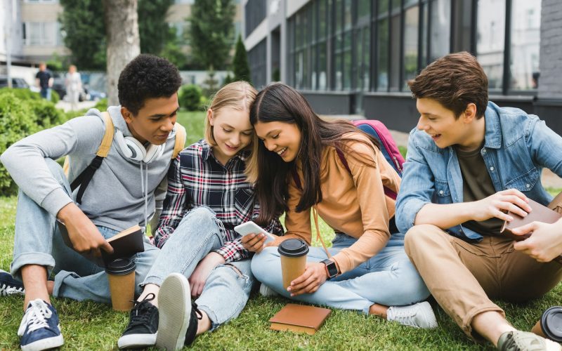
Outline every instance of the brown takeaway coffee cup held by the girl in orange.
POLYGON ((283 286, 285 289, 306 268, 306 254, 308 245, 301 239, 287 239, 277 248, 281 256, 281 272, 283 275, 283 286))

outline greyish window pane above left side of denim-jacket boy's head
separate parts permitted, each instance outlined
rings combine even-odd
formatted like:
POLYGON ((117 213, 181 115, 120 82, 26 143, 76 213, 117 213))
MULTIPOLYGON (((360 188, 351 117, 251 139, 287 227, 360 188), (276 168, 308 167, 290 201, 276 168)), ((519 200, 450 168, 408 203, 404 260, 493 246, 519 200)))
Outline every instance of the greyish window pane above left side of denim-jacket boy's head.
POLYGON ((450 48, 451 0, 432 0, 429 62, 447 55, 450 48))

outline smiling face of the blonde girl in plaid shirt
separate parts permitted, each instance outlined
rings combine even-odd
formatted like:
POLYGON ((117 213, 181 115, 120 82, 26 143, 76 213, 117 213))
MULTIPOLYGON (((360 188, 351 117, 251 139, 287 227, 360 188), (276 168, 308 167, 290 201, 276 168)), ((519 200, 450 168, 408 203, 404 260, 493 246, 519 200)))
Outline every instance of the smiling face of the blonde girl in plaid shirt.
POLYGON ((250 124, 247 110, 235 110, 232 107, 223 107, 214 112, 207 111, 209 125, 213 126, 213 154, 226 164, 237 152, 244 150, 251 143, 254 128, 250 124))

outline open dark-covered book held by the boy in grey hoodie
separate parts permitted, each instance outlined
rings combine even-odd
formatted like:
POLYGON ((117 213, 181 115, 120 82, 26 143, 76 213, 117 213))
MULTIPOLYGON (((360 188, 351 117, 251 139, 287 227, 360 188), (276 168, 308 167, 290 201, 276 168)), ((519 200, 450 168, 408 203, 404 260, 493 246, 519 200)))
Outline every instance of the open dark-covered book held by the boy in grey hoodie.
MULTIPOLYGON (((60 230, 60 234, 63 237, 63 241, 65 244, 74 249, 72 246, 72 241, 70 241, 70 237, 68 237, 68 231, 66 226, 57 220, 58 229, 60 230)), ((110 263, 112 260, 116 258, 125 258, 133 256, 135 253, 145 251, 144 241, 143 241, 143 230, 138 225, 133 225, 122 232, 115 234, 110 239, 107 239, 107 242, 112 246, 113 253, 106 253, 105 251, 101 250, 101 257, 93 256, 92 253, 81 253, 82 256, 88 258, 93 263, 100 267, 105 267, 106 263, 110 263)))

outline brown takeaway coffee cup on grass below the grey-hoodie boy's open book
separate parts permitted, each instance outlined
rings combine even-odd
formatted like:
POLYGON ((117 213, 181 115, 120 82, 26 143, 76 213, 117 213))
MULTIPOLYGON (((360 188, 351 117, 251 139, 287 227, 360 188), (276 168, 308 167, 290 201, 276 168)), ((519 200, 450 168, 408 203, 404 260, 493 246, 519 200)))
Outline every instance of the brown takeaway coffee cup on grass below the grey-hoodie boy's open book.
POLYGON ((135 297, 135 262, 132 258, 117 258, 105 266, 105 272, 110 282, 113 309, 131 310, 135 297))

